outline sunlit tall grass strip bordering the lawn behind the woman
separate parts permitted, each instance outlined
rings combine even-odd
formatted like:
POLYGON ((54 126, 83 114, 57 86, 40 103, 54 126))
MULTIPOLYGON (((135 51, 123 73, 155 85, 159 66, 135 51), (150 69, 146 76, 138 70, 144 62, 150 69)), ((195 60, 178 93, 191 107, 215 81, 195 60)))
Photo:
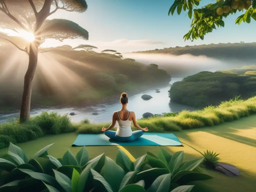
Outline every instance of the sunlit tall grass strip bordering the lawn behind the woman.
MULTIPOLYGON (((221 102, 218 106, 208 106, 202 110, 154 115, 152 118, 138 120, 138 124, 141 127, 147 127, 148 132, 181 131, 214 126, 253 113, 256 113, 256 96, 245 101, 236 97, 230 101, 221 102)), ((78 133, 101 133, 101 128, 109 125, 110 123, 80 123, 76 125, 76 128, 78 133)), ((136 130, 134 127, 132 129, 136 130)))

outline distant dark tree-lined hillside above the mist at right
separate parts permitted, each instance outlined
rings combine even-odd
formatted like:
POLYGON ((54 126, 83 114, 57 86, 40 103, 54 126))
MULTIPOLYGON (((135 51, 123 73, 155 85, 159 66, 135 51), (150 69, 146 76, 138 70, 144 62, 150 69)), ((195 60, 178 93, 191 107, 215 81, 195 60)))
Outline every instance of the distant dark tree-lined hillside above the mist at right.
POLYGON ((205 55, 218 59, 255 59, 256 43, 219 43, 210 45, 195 45, 185 47, 169 47, 148 51, 138 51, 137 53, 163 53, 173 55, 191 54, 194 56, 205 55))

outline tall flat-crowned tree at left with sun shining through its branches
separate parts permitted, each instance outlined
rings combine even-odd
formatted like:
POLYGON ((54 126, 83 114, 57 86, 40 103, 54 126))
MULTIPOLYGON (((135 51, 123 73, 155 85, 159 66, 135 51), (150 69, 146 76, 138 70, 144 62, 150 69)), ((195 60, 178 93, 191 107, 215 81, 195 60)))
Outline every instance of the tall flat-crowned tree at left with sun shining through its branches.
MULTIPOLYGON (((47 20, 57 10, 69 12, 85 12, 85 0, 0 0, 0 29, 17 34, 27 33, 33 36, 31 42, 26 39, 8 36, 1 33, 0 38, 12 43, 19 50, 28 54, 28 69, 24 77, 24 89, 20 110, 20 122, 28 121, 30 115, 30 99, 32 81, 37 66, 38 47, 47 38, 63 41, 63 39, 88 40, 88 31, 78 24, 65 19, 47 20), (51 9, 52 8, 52 9, 51 9)), ((31 37, 32 38, 32 37, 31 37)))

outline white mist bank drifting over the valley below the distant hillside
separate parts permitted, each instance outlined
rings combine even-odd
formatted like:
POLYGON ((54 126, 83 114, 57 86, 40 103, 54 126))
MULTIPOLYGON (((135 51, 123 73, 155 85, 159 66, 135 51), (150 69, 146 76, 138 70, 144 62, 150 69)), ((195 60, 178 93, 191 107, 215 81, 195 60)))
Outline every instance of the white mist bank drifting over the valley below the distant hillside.
POLYGON ((253 61, 245 60, 220 60, 207 56, 171 55, 171 54, 145 54, 124 53, 124 58, 132 58, 137 62, 150 65, 155 63, 159 69, 166 70, 172 77, 187 77, 200 71, 228 70, 240 68, 245 65, 255 65, 253 61))

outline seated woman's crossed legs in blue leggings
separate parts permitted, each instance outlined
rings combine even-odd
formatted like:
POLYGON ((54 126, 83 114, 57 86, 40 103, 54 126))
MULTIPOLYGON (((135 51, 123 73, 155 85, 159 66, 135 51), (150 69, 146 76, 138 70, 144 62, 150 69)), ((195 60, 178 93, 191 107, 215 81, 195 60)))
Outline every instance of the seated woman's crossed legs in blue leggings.
POLYGON ((104 131, 104 134, 106 136, 108 136, 109 138, 115 140, 115 141, 119 141, 119 142, 130 142, 130 141, 134 141, 138 138, 140 138, 143 135, 144 131, 142 130, 137 130, 137 131, 133 131, 132 135, 129 137, 120 137, 118 135, 116 135, 116 131, 104 131))

